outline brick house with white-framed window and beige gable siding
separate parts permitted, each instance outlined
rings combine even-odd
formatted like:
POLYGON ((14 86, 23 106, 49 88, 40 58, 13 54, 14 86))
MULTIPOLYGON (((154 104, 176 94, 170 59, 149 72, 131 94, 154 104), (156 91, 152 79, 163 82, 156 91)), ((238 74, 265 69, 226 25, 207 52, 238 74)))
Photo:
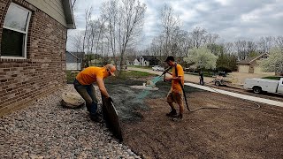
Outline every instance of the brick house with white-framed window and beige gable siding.
POLYGON ((0 1, 0 117, 65 86, 71 0, 0 1))

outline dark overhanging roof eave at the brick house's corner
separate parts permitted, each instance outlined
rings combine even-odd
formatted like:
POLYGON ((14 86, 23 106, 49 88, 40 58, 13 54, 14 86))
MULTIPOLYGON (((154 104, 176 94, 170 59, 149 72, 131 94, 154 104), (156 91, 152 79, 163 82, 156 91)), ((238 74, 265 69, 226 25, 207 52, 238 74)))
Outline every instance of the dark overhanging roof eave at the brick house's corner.
POLYGON ((75 29, 76 25, 73 19, 73 9, 72 9, 71 0, 62 0, 62 3, 63 3, 64 12, 65 12, 65 20, 67 23, 67 28, 75 29))

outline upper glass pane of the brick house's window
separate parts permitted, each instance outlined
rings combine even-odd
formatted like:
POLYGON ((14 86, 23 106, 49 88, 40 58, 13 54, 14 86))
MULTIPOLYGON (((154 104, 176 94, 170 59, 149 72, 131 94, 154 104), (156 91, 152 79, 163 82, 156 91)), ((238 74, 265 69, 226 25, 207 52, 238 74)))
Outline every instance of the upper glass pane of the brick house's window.
POLYGON ((4 27, 11 27, 13 29, 26 32, 28 14, 29 11, 11 4, 4 20, 4 27))

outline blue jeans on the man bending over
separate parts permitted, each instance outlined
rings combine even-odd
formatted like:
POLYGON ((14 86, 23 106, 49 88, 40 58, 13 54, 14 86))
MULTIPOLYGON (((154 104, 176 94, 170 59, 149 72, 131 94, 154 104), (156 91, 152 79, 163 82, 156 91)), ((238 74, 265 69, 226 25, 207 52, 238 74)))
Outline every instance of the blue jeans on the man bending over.
POLYGON ((73 86, 80 96, 86 101, 86 106, 90 116, 96 116, 97 99, 95 87, 92 85, 81 85, 77 79, 74 79, 73 86))

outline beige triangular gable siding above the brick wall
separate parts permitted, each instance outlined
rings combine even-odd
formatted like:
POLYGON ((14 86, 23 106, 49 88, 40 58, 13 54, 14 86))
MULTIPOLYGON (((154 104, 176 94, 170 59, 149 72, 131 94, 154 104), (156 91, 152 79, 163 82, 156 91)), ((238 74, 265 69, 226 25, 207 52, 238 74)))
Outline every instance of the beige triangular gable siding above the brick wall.
POLYGON ((28 3, 33 4, 36 8, 42 10, 46 14, 50 15, 57 22, 66 25, 65 13, 62 4, 62 0, 26 0, 28 3))

